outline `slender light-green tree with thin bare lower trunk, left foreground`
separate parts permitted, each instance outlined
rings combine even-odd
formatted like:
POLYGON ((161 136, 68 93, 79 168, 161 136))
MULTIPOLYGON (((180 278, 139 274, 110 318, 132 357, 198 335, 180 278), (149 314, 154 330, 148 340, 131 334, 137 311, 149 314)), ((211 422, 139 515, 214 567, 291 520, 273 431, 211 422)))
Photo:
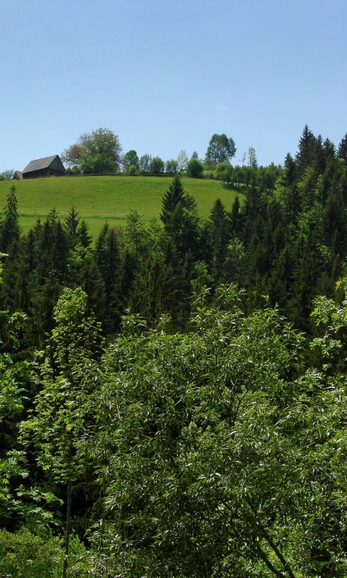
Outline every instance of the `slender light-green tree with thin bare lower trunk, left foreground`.
MULTIPOLYGON (((37 465, 50 488, 67 491, 65 557, 67 576, 74 483, 86 476, 88 462, 79 459, 76 441, 88 430, 90 382, 81 367, 100 354, 100 326, 88 314, 88 298, 81 289, 64 289, 54 311, 55 329, 39 367, 41 391, 32 417, 22 424, 22 440, 32 446, 37 465)), ((42 355, 42 354, 41 354, 42 355)))

